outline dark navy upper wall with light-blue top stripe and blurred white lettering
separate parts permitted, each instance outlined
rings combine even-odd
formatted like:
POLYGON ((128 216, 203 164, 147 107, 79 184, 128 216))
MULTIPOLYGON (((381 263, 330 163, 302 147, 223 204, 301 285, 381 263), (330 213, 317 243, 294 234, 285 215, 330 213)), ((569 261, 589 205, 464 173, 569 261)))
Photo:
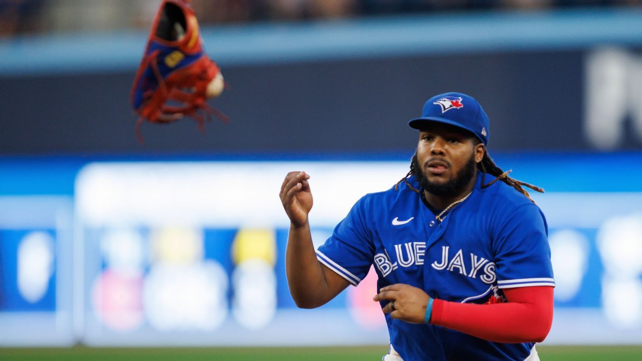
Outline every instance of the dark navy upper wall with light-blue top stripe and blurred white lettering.
POLYGON ((128 98, 146 31, 1 39, 0 154, 399 152, 446 91, 482 103, 491 150, 639 150, 641 24, 593 8, 204 28, 230 122, 145 123, 144 145, 128 98))

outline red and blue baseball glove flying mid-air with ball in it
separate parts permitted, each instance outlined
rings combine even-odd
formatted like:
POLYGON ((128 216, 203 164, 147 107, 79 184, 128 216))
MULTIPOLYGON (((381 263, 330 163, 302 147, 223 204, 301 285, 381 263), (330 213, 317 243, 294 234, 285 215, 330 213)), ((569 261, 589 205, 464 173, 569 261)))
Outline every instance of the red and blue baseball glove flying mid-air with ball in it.
POLYGON ((189 116, 201 130, 212 114, 227 122, 206 102, 224 87, 220 69, 205 54, 189 0, 162 1, 130 94, 139 141, 145 120, 169 123, 189 116))

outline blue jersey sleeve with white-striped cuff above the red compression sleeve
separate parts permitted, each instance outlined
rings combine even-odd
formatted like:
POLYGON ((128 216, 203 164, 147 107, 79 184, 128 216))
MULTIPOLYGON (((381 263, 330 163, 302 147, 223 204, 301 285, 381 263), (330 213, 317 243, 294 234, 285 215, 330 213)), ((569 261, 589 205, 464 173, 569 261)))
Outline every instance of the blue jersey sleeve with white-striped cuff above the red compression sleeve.
POLYGON ((493 248, 498 288, 555 286, 546 219, 535 204, 505 213, 493 248))

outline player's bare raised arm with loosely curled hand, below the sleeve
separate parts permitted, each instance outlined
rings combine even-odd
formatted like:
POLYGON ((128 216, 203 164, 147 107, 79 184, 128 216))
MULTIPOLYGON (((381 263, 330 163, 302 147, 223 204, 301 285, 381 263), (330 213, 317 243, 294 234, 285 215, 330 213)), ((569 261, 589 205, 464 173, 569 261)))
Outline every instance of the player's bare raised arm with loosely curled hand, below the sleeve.
POLYGON ((317 260, 308 222, 313 203, 308 179, 305 172, 290 172, 279 193, 290 218, 286 251, 288 285, 292 298, 301 308, 322 306, 350 285, 347 279, 317 260))

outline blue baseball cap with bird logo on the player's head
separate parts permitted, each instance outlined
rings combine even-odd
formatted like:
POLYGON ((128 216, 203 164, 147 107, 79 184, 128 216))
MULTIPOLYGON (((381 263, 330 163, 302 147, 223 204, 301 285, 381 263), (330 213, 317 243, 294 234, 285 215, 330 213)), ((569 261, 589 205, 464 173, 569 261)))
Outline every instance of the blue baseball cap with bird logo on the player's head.
POLYGON ((446 92, 433 96, 421 112, 421 118, 408 121, 408 125, 421 129, 426 123, 437 122, 454 125, 473 133, 488 145, 490 121, 482 105, 472 96, 461 92, 446 92))

